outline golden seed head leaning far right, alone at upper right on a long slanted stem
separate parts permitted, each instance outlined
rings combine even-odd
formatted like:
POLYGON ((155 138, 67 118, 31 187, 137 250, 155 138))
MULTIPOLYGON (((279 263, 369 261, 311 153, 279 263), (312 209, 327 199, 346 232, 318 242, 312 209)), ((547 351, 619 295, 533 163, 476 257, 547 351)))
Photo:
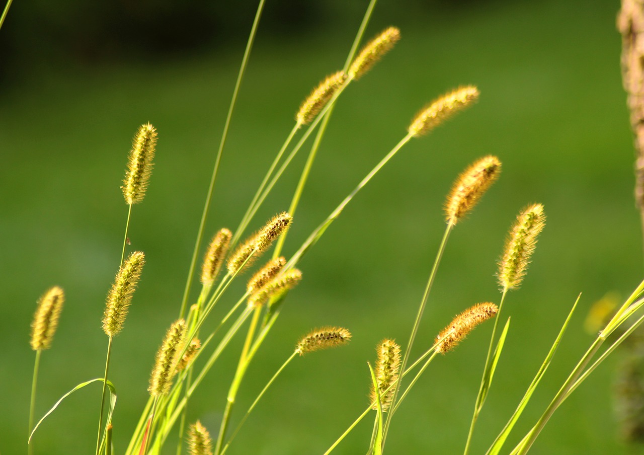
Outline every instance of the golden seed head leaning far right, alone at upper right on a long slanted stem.
POLYGON ((413 119, 408 131, 414 137, 427 134, 458 111, 473 104, 477 99, 478 89, 473 85, 460 87, 453 92, 446 93, 420 111, 413 119))

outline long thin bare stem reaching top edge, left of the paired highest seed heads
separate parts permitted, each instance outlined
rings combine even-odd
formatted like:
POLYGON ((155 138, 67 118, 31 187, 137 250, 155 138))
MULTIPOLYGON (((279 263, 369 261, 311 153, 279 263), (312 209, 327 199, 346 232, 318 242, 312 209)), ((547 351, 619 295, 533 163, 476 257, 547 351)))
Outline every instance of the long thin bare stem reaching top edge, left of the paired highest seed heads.
POLYGON ((194 250, 193 250, 193 258, 190 261, 190 268, 188 271, 188 278, 185 282, 185 289, 184 289, 184 297, 182 298, 181 301, 181 309, 179 311, 179 317, 182 318, 184 317, 185 314, 185 305, 187 305, 188 302, 188 296, 190 295, 190 287, 192 284, 193 276, 194 276, 194 267, 196 266, 197 262, 197 256, 199 254, 199 249, 201 247, 201 242, 202 238, 204 237, 204 228, 205 228, 205 222, 208 218, 208 211, 210 209, 210 203, 213 198, 213 193, 214 193, 214 182, 217 179, 217 173, 219 171, 219 164, 222 160, 222 153, 223 153, 223 146, 226 143, 226 138, 228 137, 228 130, 229 126, 231 124, 231 119, 232 119, 232 111, 234 110, 235 103, 237 101, 237 95, 240 91, 240 86, 242 86, 242 79, 243 75, 246 70, 246 66, 248 64, 248 59, 251 55, 251 49, 252 49, 252 44, 255 41, 255 35, 257 34, 257 28, 260 23, 260 17, 261 17, 261 12, 264 8, 264 3, 265 0, 260 0, 260 4, 257 6, 257 12, 255 13, 255 19, 252 23, 252 28, 251 28, 251 34, 248 37, 248 41, 246 43, 246 49, 244 50, 243 53, 243 58, 242 58, 242 65, 240 66, 240 71, 237 75, 237 81, 235 82, 235 88, 232 90, 232 99, 231 99, 231 104, 228 108, 228 115, 226 116, 226 122, 223 126, 223 133, 222 133, 222 139, 219 142, 219 148, 217 150, 217 156, 214 160, 214 168, 213 168, 213 175, 210 179, 210 186, 208 187, 208 193, 205 198, 205 203, 204 203, 204 211, 202 212, 202 219, 199 223, 199 230, 197 231, 197 238, 196 241, 194 242, 194 250))

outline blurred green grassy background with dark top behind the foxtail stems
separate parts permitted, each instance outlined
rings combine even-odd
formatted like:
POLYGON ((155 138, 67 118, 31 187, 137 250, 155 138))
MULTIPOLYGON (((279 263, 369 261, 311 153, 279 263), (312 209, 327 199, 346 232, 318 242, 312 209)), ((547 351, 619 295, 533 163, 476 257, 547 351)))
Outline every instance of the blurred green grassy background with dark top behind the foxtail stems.
MULTIPOLYGON (((178 314, 214 153, 254 3, 20 2, 0 31, 0 452, 25 452, 35 301, 55 284, 66 304, 43 355, 41 416, 77 383, 102 374, 104 298, 120 257, 120 193, 131 136, 159 131, 155 171, 129 238, 147 265, 110 378, 118 388, 115 445, 124 450, 147 400, 158 344, 178 314), (233 7, 234 6, 234 7, 233 7)), ((299 102, 341 68, 366 1, 269 0, 231 124, 207 235, 236 228, 299 102)), ((612 2, 382 0, 366 32, 403 39, 343 94, 290 231, 289 255, 405 134, 424 104, 477 84, 476 106, 413 140, 301 262, 301 285, 251 366, 233 425, 292 352, 321 325, 352 331, 348 347, 297 359, 260 402, 232 454, 319 454, 365 409, 366 362, 382 338, 406 344, 444 231, 442 204, 462 169, 495 154, 500 180, 450 238, 415 344, 420 354, 462 309, 498 302, 496 260, 518 211, 542 202, 547 226, 522 289, 509 295, 506 349, 473 440, 484 453, 515 409, 578 293, 578 313, 510 443, 535 423, 592 335, 583 320, 607 291, 622 298, 642 275, 632 197, 632 137, 612 2)), ((306 153, 258 213, 286 209, 306 153)), ((232 304, 244 280, 232 289, 232 304)), ((220 311, 223 311, 223 306, 220 311)), ((459 453, 469 428, 491 323, 437 358, 397 412, 392 453, 459 453)), ((236 365, 231 346, 189 408, 213 434, 236 365)), ((535 454, 627 454, 612 383, 619 354, 576 391, 535 454)), ((77 392, 35 436, 36 454, 86 454, 95 444, 99 386, 77 392)), ((366 452, 363 421, 338 454, 366 452)), ((513 444, 507 446, 508 450, 513 444)), ((174 453, 174 443, 167 445, 174 453)))

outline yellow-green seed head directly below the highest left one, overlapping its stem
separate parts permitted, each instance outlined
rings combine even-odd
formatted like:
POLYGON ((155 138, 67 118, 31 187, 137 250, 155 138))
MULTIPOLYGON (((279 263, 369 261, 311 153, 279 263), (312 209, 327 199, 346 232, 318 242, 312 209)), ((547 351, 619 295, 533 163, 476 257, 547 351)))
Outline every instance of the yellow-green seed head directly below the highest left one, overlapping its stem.
POLYGON ((132 302, 132 295, 137 289, 141 271, 146 263, 142 251, 135 251, 123 263, 109 289, 105 312, 103 313, 103 331, 108 336, 114 336, 123 328, 123 323, 128 315, 128 307, 132 302))

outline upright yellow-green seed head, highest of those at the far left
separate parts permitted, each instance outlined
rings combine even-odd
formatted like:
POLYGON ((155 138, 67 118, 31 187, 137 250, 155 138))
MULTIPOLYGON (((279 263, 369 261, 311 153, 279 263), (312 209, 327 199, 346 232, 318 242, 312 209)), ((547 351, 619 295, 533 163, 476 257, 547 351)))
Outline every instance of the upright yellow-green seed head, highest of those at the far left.
POLYGON ((146 195, 155 157, 156 128, 149 123, 141 125, 132 141, 128 170, 123 180, 123 195, 126 204, 141 202, 146 195))

